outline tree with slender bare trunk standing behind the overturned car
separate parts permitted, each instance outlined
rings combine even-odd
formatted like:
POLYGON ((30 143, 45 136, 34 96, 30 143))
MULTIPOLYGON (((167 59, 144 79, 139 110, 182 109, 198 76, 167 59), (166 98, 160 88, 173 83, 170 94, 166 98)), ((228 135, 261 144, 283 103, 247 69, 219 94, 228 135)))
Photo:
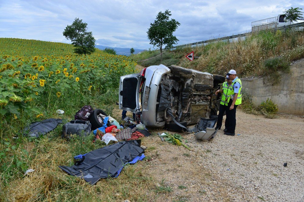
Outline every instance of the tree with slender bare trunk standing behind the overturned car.
MULTIPOLYGON (((164 13, 159 12, 156 16, 154 23, 150 23, 150 28, 148 29, 148 39, 150 44, 159 47, 162 54, 162 47, 166 45, 165 48, 171 48, 173 44, 179 41, 173 32, 181 25, 178 21, 171 19, 171 11, 166 10, 164 13)), ((162 55, 161 55, 162 61, 162 55)))

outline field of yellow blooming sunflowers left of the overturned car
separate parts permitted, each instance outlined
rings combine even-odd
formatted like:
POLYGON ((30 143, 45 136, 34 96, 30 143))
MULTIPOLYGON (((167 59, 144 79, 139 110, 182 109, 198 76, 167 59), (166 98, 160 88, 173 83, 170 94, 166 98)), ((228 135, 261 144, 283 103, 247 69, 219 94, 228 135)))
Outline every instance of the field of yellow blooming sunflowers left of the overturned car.
POLYGON ((77 55, 73 48, 64 43, 0 38, 1 138, 4 131, 14 133, 14 123, 22 129, 25 120, 43 118, 44 113, 77 99, 115 89, 120 76, 135 72, 136 63, 126 56, 99 49, 92 55, 77 55))

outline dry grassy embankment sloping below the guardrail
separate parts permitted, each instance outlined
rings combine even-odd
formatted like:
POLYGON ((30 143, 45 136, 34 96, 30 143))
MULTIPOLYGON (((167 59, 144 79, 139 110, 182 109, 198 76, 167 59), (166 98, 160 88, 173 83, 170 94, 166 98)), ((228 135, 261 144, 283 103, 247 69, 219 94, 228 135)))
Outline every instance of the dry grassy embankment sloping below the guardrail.
MULTIPOLYGON (((152 58, 159 51, 145 51, 133 55, 136 61, 152 58)), ((269 76, 277 78, 277 72, 289 72, 291 61, 304 57, 304 31, 261 31, 247 35, 244 39, 215 41, 196 47, 167 50, 160 56, 139 62, 145 67, 164 64, 224 75, 233 68, 240 77, 269 76), (194 51, 198 59, 190 62, 185 55, 194 51)))

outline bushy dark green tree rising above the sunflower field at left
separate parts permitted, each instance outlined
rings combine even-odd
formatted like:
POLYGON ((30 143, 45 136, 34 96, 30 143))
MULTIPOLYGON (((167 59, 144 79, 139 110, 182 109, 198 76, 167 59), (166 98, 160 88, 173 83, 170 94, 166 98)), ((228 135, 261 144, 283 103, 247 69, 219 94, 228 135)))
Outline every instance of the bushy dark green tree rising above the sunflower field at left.
POLYGON ((72 41, 77 54, 91 54, 95 51, 95 38, 92 31, 87 31, 87 23, 75 18, 72 25, 67 25, 63 35, 72 41))

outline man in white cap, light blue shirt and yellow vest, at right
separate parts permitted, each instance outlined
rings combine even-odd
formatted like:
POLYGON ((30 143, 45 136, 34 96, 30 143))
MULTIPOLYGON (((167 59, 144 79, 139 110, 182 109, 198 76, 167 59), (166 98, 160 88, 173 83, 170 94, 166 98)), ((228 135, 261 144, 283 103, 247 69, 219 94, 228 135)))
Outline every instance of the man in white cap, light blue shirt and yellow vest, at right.
POLYGON ((225 135, 235 135, 235 125, 236 125, 236 109, 239 104, 242 103, 242 82, 237 77, 237 72, 231 69, 228 72, 229 78, 232 80, 232 91, 228 91, 228 106, 226 108, 226 119, 228 119, 228 128, 225 135))

